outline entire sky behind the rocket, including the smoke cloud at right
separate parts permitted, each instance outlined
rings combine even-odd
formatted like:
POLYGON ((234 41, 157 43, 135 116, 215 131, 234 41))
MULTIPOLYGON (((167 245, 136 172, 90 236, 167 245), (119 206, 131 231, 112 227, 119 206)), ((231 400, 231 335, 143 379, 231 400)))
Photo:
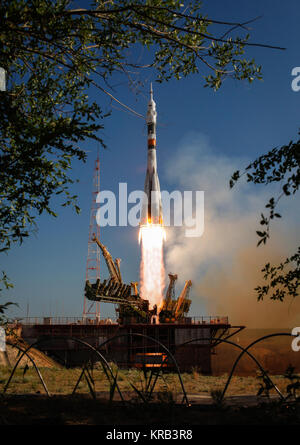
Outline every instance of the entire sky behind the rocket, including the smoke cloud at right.
MULTIPOLYGON (((272 226, 270 245, 257 249, 259 215, 272 192, 279 189, 241 181, 230 191, 228 182, 231 174, 249 161, 297 138, 300 92, 291 88, 291 71, 300 66, 300 4, 297 0, 211 0, 203 2, 203 10, 216 20, 239 22, 262 15, 251 25, 251 42, 287 48, 247 50, 247 56, 262 65, 263 81, 249 84, 227 79, 214 92, 203 88, 200 74, 158 84, 155 74, 146 72, 142 78, 145 85, 138 94, 124 79, 114 94, 145 115, 153 81, 161 189, 204 191, 203 236, 187 239, 169 228, 165 245, 166 272, 179 274, 177 293, 185 280, 193 281, 191 315, 229 315, 233 323, 252 327, 293 326, 299 314, 294 303, 287 302, 283 309, 283 305, 265 302, 262 309, 253 288, 265 260, 277 261, 294 253, 299 242, 299 199, 280 203, 283 218, 272 226), (268 317, 270 311, 274 317, 268 317)), ((105 111, 112 110, 101 132, 107 145, 100 149, 101 190, 117 192, 121 182, 128 184, 128 193, 143 189, 145 122, 118 104, 111 107, 97 90, 90 95, 105 111)), ((97 144, 87 141, 81 147, 87 151, 87 162, 75 163, 72 170, 72 177, 79 179, 72 190, 78 195, 81 214, 54 200, 59 216, 42 215, 38 232, 2 257, 2 269, 14 283, 9 298, 19 304, 10 311, 12 316, 25 316, 28 308, 30 316, 82 313, 97 144)), ((101 228, 101 240, 114 258, 122 258, 124 281, 138 281, 138 229, 101 228)), ((107 276, 102 260, 101 278, 107 276)), ((101 314, 114 315, 113 306, 102 304, 101 314)))

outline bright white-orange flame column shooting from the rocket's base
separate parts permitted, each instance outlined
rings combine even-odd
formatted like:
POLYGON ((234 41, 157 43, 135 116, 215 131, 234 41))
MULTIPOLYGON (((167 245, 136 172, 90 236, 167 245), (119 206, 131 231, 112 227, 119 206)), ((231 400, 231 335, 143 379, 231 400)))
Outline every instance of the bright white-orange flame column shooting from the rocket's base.
POLYGON ((141 297, 149 300, 150 308, 156 304, 159 308, 163 300, 165 269, 163 260, 163 242, 165 230, 160 224, 141 226, 139 242, 142 244, 140 266, 141 297))

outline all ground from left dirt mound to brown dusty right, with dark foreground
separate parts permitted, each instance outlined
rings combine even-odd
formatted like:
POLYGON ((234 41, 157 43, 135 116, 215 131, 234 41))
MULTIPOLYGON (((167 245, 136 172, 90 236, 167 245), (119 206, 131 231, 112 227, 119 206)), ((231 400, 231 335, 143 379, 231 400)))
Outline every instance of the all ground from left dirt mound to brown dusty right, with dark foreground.
MULTIPOLYGON (((238 344, 247 345, 252 340, 269 332, 253 332, 243 338, 242 333, 235 339, 238 344)), ((246 333, 243 334, 244 336, 246 333)), ((287 395, 289 380, 283 377, 287 366, 292 363, 295 373, 300 369, 300 354, 290 347, 290 337, 264 341, 252 351, 270 373, 278 389, 287 395)), ((147 381, 137 369, 118 370, 111 364, 113 374, 125 400, 122 403, 116 388, 110 384, 101 367, 91 372, 90 385, 85 378, 78 381, 81 368, 65 369, 40 351, 33 350, 32 358, 39 366, 41 375, 51 397, 47 397, 39 377, 28 358, 23 358, 0 403, 0 424, 67 424, 67 425, 268 425, 300 424, 300 403, 288 399, 280 402, 274 389, 270 397, 257 397, 262 378, 256 366, 244 357, 236 369, 224 403, 219 396, 228 379, 228 372, 239 351, 221 345, 213 356, 214 375, 204 376, 199 369, 182 374, 182 381, 190 406, 182 404, 182 387, 178 375, 165 373, 158 377, 150 403, 143 401, 147 381), (112 399, 112 400, 110 400, 112 399)), ((18 358, 16 349, 8 347, 11 363, 18 358)), ((0 367, 0 394, 11 373, 11 368, 0 367)), ((149 377, 149 373, 146 378, 149 377)), ((298 389, 298 393, 300 388, 298 389)), ((299 396, 300 394, 296 394, 299 396)), ((1 396, 0 396, 1 397, 1 396)), ((300 401, 300 399, 299 399, 300 401)))

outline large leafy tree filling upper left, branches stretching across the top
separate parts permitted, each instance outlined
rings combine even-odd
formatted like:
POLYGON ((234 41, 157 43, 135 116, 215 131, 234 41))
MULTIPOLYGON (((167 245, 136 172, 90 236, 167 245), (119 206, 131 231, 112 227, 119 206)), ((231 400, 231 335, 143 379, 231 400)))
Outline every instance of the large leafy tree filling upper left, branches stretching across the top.
POLYGON ((72 162, 85 160, 82 141, 105 145, 99 131, 106 115, 89 98, 91 87, 119 102, 110 79, 131 81, 151 69, 158 82, 200 73, 204 86, 217 90, 227 77, 261 78, 260 66, 244 57, 247 46, 275 48, 249 41, 253 20, 214 20, 198 0, 185 6, 178 0, 72 6, 69 0, 0 4, 0 67, 8 75, 7 91, 0 91, 2 252, 29 236, 38 215, 56 216, 54 195, 79 212, 70 193, 72 162), (134 58, 139 48, 148 49, 143 63, 134 58))

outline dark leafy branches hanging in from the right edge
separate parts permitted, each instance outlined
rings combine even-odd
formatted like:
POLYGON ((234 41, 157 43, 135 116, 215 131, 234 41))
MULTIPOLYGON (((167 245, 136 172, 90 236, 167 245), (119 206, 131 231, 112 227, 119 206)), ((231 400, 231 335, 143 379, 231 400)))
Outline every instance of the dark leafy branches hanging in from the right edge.
MULTIPOLYGON (((265 206, 268 209, 267 216, 261 214, 260 225, 263 226, 263 229, 256 232, 259 237, 257 243, 259 246, 266 244, 270 238, 271 221, 274 218, 281 218, 281 214, 276 212, 279 200, 284 196, 294 195, 299 190, 300 140, 291 141, 288 145, 280 148, 273 148, 249 164, 242 173, 236 171, 231 177, 230 187, 233 187, 236 181, 244 175, 248 182, 254 184, 268 185, 273 182, 281 182, 281 193, 277 197, 272 197, 265 206)), ((288 295, 295 298, 299 295, 300 247, 279 265, 272 266, 267 263, 262 272, 267 284, 255 288, 258 300, 263 300, 266 296, 280 301, 283 301, 288 295)))

